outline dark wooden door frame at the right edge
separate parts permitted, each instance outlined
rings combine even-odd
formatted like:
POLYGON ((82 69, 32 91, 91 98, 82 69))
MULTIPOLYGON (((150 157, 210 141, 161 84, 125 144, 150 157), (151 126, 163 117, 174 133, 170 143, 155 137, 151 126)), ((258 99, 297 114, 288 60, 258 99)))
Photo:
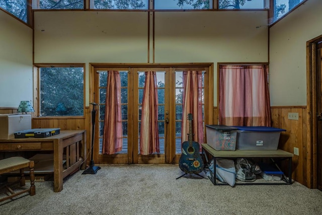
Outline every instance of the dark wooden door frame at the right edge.
POLYGON ((317 110, 316 110, 316 46, 322 35, 306 42, 306 123, 307 162, 306 186, 317 188, 317 110))

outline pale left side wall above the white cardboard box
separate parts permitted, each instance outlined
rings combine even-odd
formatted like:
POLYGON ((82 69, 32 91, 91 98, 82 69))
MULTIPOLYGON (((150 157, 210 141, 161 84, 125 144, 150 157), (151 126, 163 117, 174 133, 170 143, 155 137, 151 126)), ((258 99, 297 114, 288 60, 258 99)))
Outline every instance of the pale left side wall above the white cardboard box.
POLYGON ((32 29, 0 10, 0 107, 33 100, 32 29))

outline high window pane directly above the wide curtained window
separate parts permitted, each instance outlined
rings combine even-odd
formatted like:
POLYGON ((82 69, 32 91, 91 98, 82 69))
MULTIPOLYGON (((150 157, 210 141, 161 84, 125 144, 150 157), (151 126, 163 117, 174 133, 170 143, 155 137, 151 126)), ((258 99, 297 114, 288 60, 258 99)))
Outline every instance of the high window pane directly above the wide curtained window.
POLYGON ((238 1, 219 0, 219 9, 264 9, 264 8, 265 8, 264 0, 238 0, 238 1))

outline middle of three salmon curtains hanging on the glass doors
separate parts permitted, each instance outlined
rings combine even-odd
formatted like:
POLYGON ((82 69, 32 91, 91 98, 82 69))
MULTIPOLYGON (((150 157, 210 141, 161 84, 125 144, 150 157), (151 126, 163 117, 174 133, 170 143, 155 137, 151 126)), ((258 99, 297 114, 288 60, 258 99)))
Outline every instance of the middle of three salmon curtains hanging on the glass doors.
POLYGON ((141 112, 140 154, 159 152, 156 72, 146 71, 141 112))

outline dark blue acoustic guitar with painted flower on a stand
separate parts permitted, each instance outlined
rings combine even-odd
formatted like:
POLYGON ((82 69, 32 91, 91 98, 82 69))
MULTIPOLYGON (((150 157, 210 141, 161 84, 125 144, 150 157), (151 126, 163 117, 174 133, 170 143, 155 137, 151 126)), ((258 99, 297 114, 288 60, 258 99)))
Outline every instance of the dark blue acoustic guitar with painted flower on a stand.
POLYGON ((185 173, 198 174, 204 169, 203 160, 199 154, 200 146, 198 142, 192 141, 192 120, 193 116, 191 113, 188 114, 189 120, 189 141, 182 143, 182 154, 179 159, 179 167, 185 173))

